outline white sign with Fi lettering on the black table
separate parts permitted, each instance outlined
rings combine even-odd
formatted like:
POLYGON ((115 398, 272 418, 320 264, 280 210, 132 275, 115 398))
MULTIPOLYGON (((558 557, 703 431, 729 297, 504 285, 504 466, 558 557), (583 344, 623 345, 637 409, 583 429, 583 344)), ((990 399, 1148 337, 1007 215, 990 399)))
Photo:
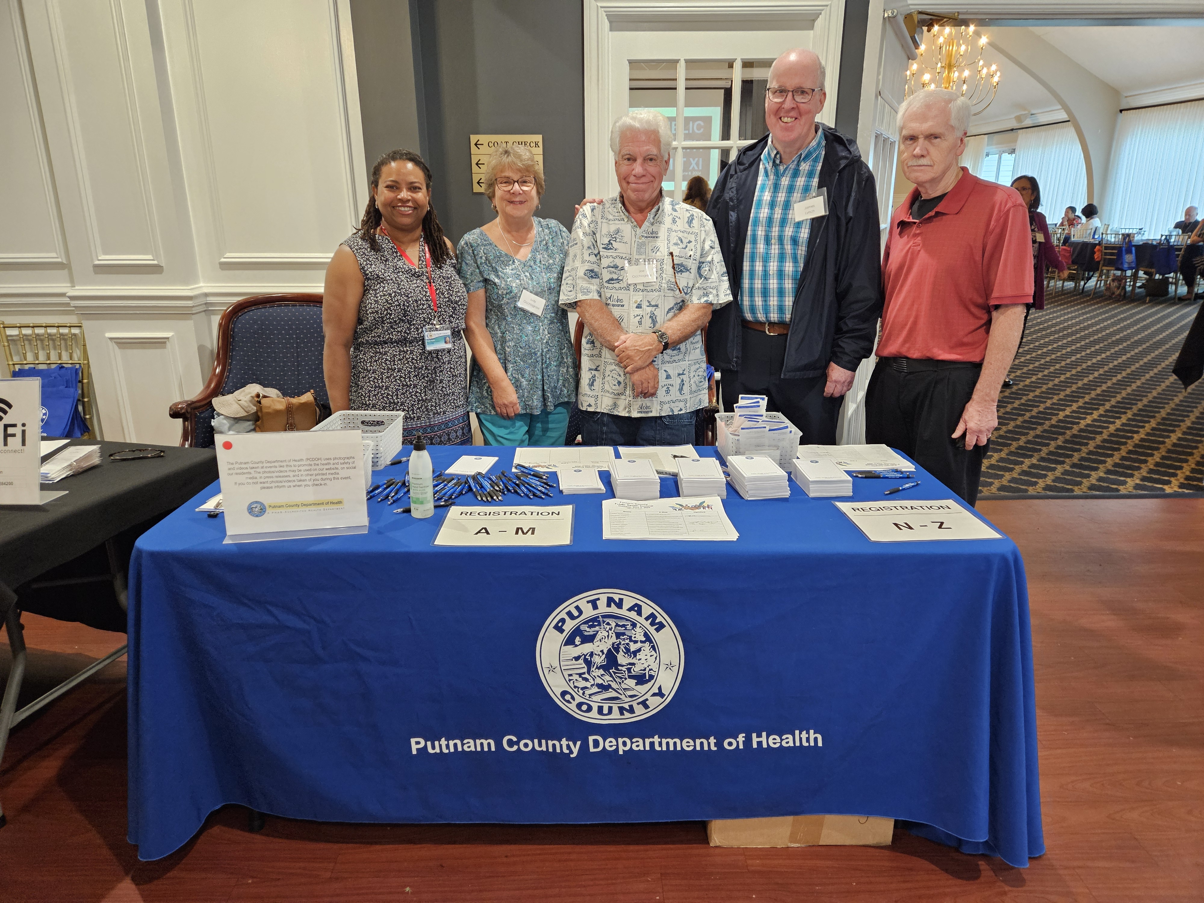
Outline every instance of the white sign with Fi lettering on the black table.
POLYGON ((0 506, 46 504, 42 491, 42 380, 0 379, 0 506))

